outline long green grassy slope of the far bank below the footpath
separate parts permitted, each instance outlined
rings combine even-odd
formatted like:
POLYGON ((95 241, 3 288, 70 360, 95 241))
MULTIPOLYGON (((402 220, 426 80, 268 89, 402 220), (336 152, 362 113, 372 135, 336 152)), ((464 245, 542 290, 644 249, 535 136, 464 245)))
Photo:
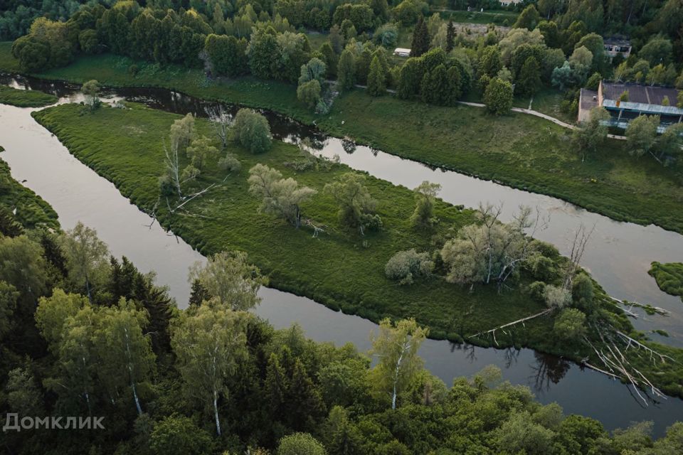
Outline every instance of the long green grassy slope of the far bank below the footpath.
MULTIPOLYGON (((0 70, 18 72, 9 49, 9 43, 0 43, 0 70)), ((476 107, 433 107, 354 90, 339 97, 329 115, 318 117, 300 105, 294 87, 282 82, 207 80, 200 70, 143 62, 135 63, 132 75, 133 63, 95 55, 37 76, 79 83, 94 78, 112 87, 166 87, 271 109, 391 154, 568 200, 615 220, 683 232, 681 167, 632 158, 620 141, 608 141, 582 163, 566 129, 525 114, 491 117, 476 107)))

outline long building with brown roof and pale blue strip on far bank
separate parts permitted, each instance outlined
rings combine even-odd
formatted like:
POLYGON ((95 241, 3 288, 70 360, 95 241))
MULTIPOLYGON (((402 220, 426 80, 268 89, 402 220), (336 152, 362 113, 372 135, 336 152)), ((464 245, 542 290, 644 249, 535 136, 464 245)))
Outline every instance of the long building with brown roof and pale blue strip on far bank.
POLYGON ((640 115, 659 115, 660 132, 674 123, 683 122, 683 109, 678 105, 678 90, 622 82, 600 82, 598 91, 581 89, 578 103, 578 121, 588 119, 595 106, 610 113, 610 127, 626 129, 628 122, 640 115))

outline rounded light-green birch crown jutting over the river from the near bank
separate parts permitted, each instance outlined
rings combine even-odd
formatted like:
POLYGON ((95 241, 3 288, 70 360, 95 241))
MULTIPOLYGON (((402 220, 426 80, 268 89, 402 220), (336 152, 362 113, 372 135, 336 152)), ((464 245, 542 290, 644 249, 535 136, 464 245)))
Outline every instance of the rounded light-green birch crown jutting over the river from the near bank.
POLYGON ((235 311, 247 311, 260 304, 258 290, 267 280, 258 267, 247 262, 245 252, 220 252, 206 264, 195 262, 190 267, 189 282, 201 287, 222 305, 235 311))

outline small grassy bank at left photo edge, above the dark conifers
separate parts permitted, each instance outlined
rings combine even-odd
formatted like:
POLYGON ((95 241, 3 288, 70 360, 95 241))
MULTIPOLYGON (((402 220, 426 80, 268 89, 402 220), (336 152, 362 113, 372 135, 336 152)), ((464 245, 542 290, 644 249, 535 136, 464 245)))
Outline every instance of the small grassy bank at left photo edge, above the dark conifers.
MULTIPOLYGON (((0 152, 4 149, 0 146, 0 152)), ((24 228, 58 229, 57 213, 40 196, 12 178, 9 165, 0 159, 0 207, 5 213, 16 209, 16 221, 24 228)))

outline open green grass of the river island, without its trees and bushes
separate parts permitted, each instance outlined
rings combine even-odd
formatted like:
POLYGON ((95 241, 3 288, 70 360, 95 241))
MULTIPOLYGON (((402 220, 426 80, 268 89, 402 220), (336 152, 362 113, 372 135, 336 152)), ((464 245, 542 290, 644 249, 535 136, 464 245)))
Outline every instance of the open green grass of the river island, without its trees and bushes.
MULTIPOLYGON (((162 140, 171 122, 179 116, 135 106, 133 110, 105 108, 94 114, 79 116, 82 107, 63 105, 35 114, 44 126, 51 129, 60 141, 80 161, 92 167, 139 207, 150 210, 157 201, 157 176, 162 173, 162 140)), ((198 119, 200 132, 212 134, 206 121, 198 119)), ((459 341, 478 331, 535 314, 542 309, 521 291, 498 294, 494 288, 467 289, 433 279, 412 287, 399 287, 388 282, 383 266, 388 257, 398 250, 415 247, 430 250, 430 236, 415 235, 408 225, 413 209, 412 192, 376 178, 368 178, 371 193, 378 199, 378 213, 385 230, 365 238, 336 228, 336 208, 329 197, 317 195, 305 206, 305 216, 331 228, 320 238, 312 232, 295 230, 290 225, 256 213, 258 200, 246 196, 246 171, 256 162, 263 162, 294 176, 297 181, 318 190, 346 166, 334 166, 329 171, 294 173, 282 166, 293 161, 299 152, 294 146, 276 143, 265 155, 253 156, 240 149, 231 149, 242 161, 243 171, 228 177, 208 171, 197 188, 210 183, 221 183, 213 193, 197 198, 186 205, 188 212, 170 216, 164 204, 157 216, 166 228, 182 237, 203 254, 223 249, 245 250, 250 260, 270 276, 270 285, 294 294, 308 296, 333 309, 359 314, 377 321, 383 316, 402 318, 415 316, 420 323, 430 326, 433 338, 459 341), (366 242, 364 242, 366 240, 366 242)), ((440 231, 468 223, 470 210, 458 210, 439 203, 440 231)), ((433 248, 431 248, 433 249, 433 248)), ((629 331, 630 323, 611 305, 615 321, 622 330, 629 331)), ((591 355, 584 348, 561 346, 552 336, 553 320, 539 318, 526 323, 525 328, 512 336, 499 334, 499 346, 529 346, 573 360, 591 355)), ((492 341, 476 341, 488 346, 492 341)), ((654 345, 653 345, 654 346, 654 345)), ((657 346, 665 353, 683 360, 683 351, 657 346)), ((672 395, 681 394, 679 365, 657 364, 657 382, 672 395)), ((642 368, 652 370, 643 362, 642 368)), ((647 373, 646 373, 647 374, 647 373)))

